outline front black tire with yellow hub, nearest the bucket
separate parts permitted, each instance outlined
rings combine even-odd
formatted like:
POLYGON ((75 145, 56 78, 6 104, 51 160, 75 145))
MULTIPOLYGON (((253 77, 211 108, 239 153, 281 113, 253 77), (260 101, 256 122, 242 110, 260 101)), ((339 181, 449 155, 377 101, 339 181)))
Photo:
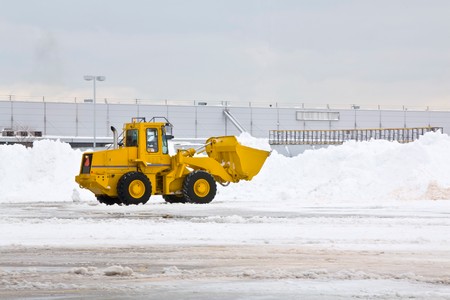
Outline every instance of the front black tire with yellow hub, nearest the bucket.
POLYGON ((190 203, 209 203, 216 196, 216 192, 216 181, 208 172, 194 171, 184 179, 183 195, 190 203))

